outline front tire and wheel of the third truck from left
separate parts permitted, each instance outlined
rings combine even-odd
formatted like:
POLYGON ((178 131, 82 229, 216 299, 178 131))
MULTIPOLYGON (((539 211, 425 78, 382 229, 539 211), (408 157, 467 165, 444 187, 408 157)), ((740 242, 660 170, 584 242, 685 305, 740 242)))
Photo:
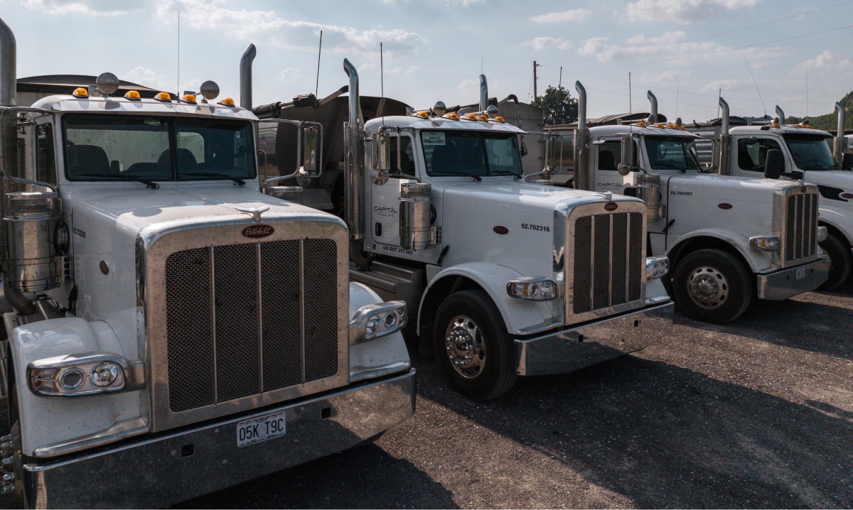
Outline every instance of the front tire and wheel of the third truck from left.
POLYGON ((699 250, 676 266, 673 298, 688 316, 724 324, 740 317, 752 300, 750 274, 731 253, 699 250))

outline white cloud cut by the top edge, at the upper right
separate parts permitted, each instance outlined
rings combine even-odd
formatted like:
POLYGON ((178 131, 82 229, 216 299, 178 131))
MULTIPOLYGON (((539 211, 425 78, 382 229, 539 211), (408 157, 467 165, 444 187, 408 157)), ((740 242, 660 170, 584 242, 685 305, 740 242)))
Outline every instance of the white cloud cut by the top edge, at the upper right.
POLYGON ((676 21, 690 23, 708 20, 728 10, 754 7, 760 0, 637 0, 628 4, 629 21, 676 21))

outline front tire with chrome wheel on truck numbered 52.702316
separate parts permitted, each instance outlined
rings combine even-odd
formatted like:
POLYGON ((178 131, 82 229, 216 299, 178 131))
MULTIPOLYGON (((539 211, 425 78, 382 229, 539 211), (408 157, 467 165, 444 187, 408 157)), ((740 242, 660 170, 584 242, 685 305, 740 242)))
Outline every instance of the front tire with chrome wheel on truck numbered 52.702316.
POLYGON ((438 368, 454 391, 484 401, 515 384, 513 342, 485 292, 467 290, 444 298, 432 331, 438 368))

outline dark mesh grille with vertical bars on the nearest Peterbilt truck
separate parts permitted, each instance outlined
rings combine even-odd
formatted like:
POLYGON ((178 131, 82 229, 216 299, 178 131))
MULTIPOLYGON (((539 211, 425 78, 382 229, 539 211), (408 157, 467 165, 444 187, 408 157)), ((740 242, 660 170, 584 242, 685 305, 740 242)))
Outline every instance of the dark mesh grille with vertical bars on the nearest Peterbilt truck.
POLYGON ((172 253, 165 263, 171 411, 337 374, 336 253, 328 239, 172 253))

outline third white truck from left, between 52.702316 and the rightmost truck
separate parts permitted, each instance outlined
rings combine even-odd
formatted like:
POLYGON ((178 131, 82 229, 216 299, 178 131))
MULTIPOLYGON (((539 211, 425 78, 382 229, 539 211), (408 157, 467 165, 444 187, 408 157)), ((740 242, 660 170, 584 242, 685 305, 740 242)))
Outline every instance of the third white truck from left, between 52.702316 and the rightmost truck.
POLYGON ((753 297, 790 298, 827 280, 815 185, 705 173, 699 136, 656 123, 651 92, 647 122, 587 128, 586 90, 576 89, 577 129, 553 128, 574 137, 572 185, 645 200, 650 252, 670 258, 670 295, 688 316, 729 322, 753 297))

